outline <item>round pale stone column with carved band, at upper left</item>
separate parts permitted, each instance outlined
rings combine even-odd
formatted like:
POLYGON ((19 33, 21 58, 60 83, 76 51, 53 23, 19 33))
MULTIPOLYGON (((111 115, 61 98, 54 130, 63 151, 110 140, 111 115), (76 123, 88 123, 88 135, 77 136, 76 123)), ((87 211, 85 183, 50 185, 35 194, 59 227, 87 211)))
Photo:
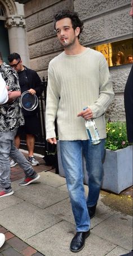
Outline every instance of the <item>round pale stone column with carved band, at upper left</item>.
POLYGON ((23 64, 29 67, 25 19, 20 15, 8 16, 5 26, 8 29, 10 53, 19 53, 23 64))

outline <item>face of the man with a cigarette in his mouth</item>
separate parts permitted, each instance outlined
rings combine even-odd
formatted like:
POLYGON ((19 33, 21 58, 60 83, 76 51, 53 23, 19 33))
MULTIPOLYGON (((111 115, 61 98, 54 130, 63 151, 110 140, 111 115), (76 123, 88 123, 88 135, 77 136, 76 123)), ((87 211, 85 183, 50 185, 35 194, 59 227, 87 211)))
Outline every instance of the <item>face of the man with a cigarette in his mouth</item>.
POLYGON ((74 45, 79 32, 73 29, 70 18, 64 18, 56 22, 56 33, 60 43, 64 48, 74 45))

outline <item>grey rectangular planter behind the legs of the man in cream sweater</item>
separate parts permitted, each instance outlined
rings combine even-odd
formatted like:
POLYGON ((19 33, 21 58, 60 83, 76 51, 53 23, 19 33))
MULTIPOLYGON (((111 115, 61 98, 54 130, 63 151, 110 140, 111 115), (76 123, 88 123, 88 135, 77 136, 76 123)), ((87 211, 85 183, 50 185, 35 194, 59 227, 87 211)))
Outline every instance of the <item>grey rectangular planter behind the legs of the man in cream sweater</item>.
MULTIPOLYGON (((65 177, 60 155, 60 143, 57 142, 59 174, 65 177)), ((83 158, 84 183, 88 184, 85 159, 83 158)), ((104 160, 104 177, 101 188, 119 194, 132 186, 132 146, 122 150, 106 150, 104 160)))

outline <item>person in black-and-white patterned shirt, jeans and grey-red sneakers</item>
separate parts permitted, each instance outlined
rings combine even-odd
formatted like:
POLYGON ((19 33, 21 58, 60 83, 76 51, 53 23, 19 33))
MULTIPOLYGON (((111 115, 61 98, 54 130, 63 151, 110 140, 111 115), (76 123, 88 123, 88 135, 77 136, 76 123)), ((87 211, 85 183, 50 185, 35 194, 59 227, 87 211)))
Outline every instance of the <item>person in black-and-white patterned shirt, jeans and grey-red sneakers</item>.
POLYGON ((8 91, 8 101, 0 105, 0 198, 14 194, 10 180, 10 157, 17 161, 24 169, 25 178, 20 182, 20 186, 26 186, 38 180, 40 177, 14 145, 14 138, 17 128, 24 125, 24 117, 20 104, 20 86, 17 72, 2 60, 0 53, 0 72, 6 82, 8 91))

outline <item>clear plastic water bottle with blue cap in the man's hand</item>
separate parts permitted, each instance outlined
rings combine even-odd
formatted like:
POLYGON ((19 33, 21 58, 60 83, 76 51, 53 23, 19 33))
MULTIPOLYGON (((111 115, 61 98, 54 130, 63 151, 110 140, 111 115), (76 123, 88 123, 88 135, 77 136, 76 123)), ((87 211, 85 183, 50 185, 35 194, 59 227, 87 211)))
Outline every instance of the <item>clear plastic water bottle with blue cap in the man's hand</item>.
MULTIPOLYGON (((87 109, 87 108, 84 108, 83 110, 85 110, 85 109, 87 109)), ((101 142, 101 140, 100 140, 99 133, 98 133, 94 119, 86 120, 85 126, 86 126, 86 130, 87 130, 87 134, 91 140, 91 143, 93 145, 99 144, 101 142)))

